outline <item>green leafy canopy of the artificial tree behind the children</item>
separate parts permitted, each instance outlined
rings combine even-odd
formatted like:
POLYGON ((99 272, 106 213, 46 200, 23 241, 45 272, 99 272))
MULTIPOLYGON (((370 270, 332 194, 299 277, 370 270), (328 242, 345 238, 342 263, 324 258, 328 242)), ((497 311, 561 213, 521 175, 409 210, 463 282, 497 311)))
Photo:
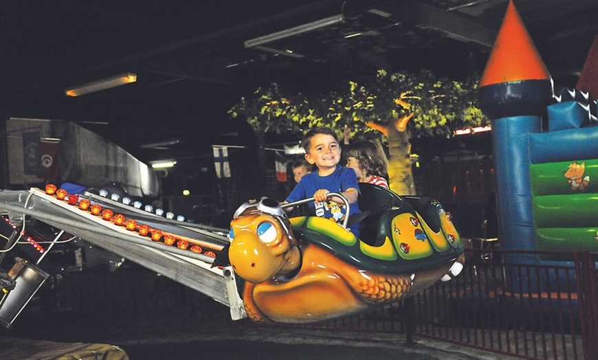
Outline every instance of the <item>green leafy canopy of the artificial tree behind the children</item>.
POLYGON ((379 138, 366 122, 387 125, 413 113, 408 123, 412 137, 450 137, 457 128, 489 124, 476 106, 478 78, 464 82, 436 78, 431 71, 419 74, 380 70, 372 82, 349 81, 346 89, 311 98, 285 94, 276 84, 242 98, 229 113, 247 119, 258 135, 268 132, 306 131, 330 126, 342 137, 345 126, 356 138, 379 138))

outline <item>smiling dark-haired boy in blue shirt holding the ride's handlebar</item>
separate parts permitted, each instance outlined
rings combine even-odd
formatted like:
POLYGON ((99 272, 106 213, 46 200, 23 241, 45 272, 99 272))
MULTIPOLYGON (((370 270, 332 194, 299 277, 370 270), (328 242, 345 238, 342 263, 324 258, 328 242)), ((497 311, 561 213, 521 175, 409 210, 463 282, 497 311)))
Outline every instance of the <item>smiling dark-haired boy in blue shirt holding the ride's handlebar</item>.
MULTIPOLYGON (((346 216, 341 199, 328 199, 329 192, 339 192, 349 202, 350 214, 358 214, 359 185, 355 171, 338 165, 340 161, 340 145, 334 131, 330 128, 313 128, 305 134, 302 142, 305 159, 318 168, 311 174, 304 175, 291 194, 287 203, 314 198, 309 203, 311 215, 331 218, 342 222, 346 216)), ((351 232, 359 237, 359 223, 350 225, 351 232)))

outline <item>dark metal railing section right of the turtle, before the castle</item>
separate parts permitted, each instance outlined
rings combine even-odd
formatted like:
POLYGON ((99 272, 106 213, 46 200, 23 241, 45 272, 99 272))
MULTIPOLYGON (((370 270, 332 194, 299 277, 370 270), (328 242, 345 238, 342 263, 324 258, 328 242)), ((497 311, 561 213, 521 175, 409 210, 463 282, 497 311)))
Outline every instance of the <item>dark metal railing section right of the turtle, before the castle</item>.
POLYGON ((370 313, 301 328, 401 333, 523 359, 595 359, 598 254, 546 251, 570 261, 509 263, 504 254, 466 249, 461 275, 370 313))

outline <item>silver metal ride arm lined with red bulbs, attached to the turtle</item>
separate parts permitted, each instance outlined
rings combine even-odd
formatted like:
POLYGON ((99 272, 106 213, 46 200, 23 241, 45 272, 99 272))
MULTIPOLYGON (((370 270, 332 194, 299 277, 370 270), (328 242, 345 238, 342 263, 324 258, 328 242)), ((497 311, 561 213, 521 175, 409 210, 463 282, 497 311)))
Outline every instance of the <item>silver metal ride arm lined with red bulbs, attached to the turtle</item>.
MULTIPOLYGON (((169 220, 89 192, 82 192, 79 196, 192 245, 217 252, 229 242, 223 229, 169 220)), ((234 320, 247 316, 236 288, 234 271, 230 267, 212 267, 213 257, 152 241, 148 236, 140 236, 138 232, 80 210, 76 205, 69 205, 67 201, 58 200, 38 188, 1 190, 0 213, 7 212, 11 223, 25 221, 26 226, 27 222, 36 218, 212 297, 230 308, 234 320)))

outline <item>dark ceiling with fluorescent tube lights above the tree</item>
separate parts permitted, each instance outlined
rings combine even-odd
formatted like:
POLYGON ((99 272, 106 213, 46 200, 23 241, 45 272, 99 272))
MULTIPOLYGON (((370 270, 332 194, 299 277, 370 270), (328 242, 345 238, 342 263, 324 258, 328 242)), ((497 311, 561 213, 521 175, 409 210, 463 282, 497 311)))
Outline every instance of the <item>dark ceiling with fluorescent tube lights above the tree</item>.
MULTIPOLYGON (((317 92, 372 78, 377 69, 481 73, 507 3, 3 0, 1 117, 105 122, 93 130, 144 160, 161 155, 140 145, 159 139, 181 139, 186 152, 230 144, 239 139, 227 135, 247 128, 226 111, 268 82, 317 92), (331 16, 344 21, 244 46, 331 16), (67 87, 126 72, 138 82, 64 95, 67 87)), ((598 1, 514 3, 555 83, 575 86, 598 33, 598 1)))

